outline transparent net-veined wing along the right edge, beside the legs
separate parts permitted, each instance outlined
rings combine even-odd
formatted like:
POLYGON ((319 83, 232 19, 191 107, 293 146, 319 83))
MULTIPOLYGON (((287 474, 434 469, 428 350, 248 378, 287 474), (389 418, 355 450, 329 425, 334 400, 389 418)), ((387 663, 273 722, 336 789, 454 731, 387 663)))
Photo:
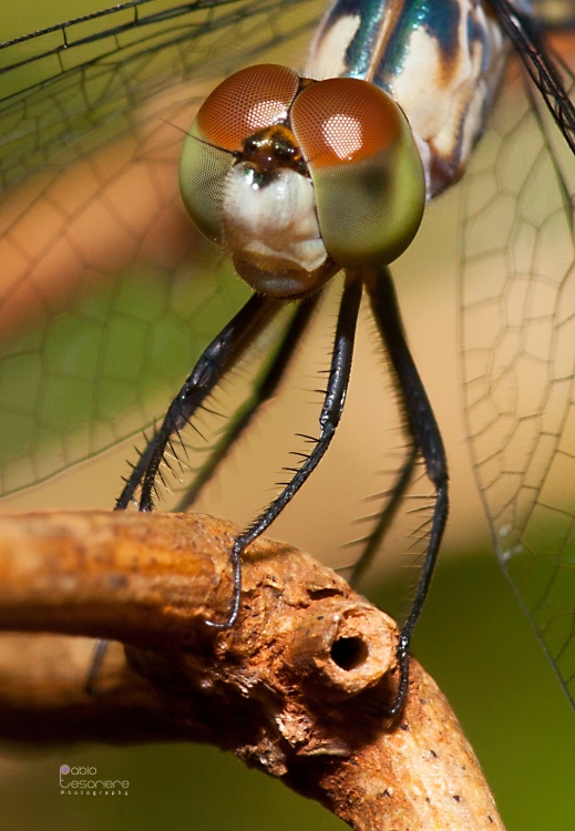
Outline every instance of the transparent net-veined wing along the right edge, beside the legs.
POLYGON ((501 566, 572 701, 573 194, 573 156, 515 68, 463 182, 464 403, 501 566))

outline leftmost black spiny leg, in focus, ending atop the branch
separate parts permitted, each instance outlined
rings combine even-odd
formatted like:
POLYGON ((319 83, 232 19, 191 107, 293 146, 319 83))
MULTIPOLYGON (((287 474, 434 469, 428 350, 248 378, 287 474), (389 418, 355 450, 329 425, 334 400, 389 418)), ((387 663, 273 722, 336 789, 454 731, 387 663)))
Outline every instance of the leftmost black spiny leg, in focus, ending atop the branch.
POLYGON ((192 373, 172 401, 160 430, 148 442, 132 471, 116 501, 116 511, 127 507, 140 484, 142 484, 140 510, 152 510, 155 480, 170 440, 188 423, 198 407, 280 307, 280 300, 253 295, 204 350, 192 373))

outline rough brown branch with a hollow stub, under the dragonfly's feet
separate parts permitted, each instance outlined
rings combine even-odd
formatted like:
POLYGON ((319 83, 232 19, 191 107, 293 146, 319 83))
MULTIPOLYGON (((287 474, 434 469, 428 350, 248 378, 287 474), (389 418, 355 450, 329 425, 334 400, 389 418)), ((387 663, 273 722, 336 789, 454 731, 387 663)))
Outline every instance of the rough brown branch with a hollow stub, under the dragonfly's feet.
POLYGON ((0 519, 0 628, 107 637, 97 697, 92 642, 0 639, 0 736, 189 740, 233 750, 355 829, 502 829, 444 697, 412 661, 404 712, 393 622, 311 557, 259 540, 244 556, 237 626, 235 526, 188 514, 0 519))

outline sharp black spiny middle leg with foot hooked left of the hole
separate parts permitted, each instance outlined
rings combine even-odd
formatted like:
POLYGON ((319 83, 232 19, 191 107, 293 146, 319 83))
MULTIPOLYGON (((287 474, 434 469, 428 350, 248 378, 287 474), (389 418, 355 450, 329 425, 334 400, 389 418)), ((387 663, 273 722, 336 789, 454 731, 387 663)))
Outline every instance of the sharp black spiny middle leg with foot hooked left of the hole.
POLYGON ((301 466, 297 469, 281 493, 270 505, 268 505, 266 511, 264 511, 264 513, 251 523, 247 531, 244 534, 240 534, 235 541, 230 554, 230 562, 234 571, 234 596, 232 608, 227 620, 224 620, 223 623, 207 620, 206 623, 209 626, 224 629, 234 625, 239 611, 242 595, 242 552, 245 551, 256 537, 263 534, 267 527, 269 527, 292 496, 299 491, 304 482, 319 464, 336 433, 336 429, 343 411, 343 402, 346 400, 346 392, 349 383, 360 302, 361 279, 358 275, 348 275, 346 277, 346 285, 339 307, 329 380, 319 417, 319 438, 312 439, 312 451, 306 458, 301 466))

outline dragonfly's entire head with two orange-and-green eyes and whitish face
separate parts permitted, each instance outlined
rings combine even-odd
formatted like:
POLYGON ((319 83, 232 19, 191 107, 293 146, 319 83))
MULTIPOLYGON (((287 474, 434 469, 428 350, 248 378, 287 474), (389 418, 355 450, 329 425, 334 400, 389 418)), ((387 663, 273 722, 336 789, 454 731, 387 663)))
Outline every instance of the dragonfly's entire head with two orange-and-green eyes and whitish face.
POLYGON ((274 297, 312 294, 340 268, 391 263, 425 202, 421 158, 390 95, 276 64, 240 70, 206 99, 179 182, 197 228, 274 297))

